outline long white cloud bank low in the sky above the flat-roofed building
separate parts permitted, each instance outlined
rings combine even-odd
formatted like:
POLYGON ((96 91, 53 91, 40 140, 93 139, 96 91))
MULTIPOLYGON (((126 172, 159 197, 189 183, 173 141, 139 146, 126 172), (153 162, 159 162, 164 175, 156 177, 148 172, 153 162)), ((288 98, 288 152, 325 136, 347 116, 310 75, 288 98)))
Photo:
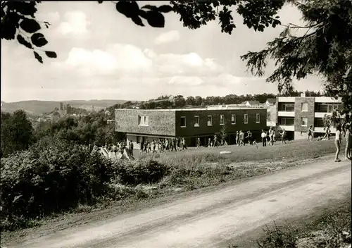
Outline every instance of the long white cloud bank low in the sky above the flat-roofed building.
POLYGON ((196 53, 156 54, 151 49, 139 49, 131 44, 111 44, 104 50, 73 48, 63 66, 82 75, 135 76, 210 76, 222 73, 223 68, 212 58, 196 53), (139 74, 138 74, 139 73, 139 74))

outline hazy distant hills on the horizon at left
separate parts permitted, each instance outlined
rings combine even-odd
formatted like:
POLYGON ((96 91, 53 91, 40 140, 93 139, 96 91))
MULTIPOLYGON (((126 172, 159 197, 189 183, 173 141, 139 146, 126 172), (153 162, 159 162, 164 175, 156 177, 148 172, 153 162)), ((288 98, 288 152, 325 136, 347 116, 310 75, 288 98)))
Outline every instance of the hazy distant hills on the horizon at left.
POLYGON ((17 102, 4 102, 1 101, 1 111, 6 111, 13 113, 18 109, 23 109, 26 113, 32 116, 39 116, 42 113, 49 113, 54 111, 55 108, 60 106, 60 102, 65 104, 70 104, 77 109, 87 109, 92 111, 92 106, 94 106, 94 111, 99 111, 101 109, 106 109, 108 106, 114 104, 123 104, 125 100, 70 100, 70 101, 17 101, 17 102))

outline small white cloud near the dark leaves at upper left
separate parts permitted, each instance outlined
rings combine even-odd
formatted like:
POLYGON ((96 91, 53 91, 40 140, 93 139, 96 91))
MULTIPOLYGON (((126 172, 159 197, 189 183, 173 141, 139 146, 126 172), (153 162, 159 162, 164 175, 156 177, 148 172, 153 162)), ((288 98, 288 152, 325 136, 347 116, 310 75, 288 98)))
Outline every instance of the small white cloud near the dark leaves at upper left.
POLYGON ((82 35, 88 32, 86 14, 81 11, 70 11, 63 16, 63 23, 58 25, 58 31, 63 35, 82 35))

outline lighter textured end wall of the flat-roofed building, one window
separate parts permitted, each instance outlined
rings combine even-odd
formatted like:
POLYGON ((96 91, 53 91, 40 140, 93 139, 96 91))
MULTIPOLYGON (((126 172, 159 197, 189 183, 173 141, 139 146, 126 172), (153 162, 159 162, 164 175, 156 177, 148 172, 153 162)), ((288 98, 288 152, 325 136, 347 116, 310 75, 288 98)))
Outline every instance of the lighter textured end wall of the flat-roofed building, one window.
POLYGON ((175 111, 115 109, 115 131, 130 134, 175 136, 175 111), (149 125, 138 125, 138 116, 149 116, 149 125))

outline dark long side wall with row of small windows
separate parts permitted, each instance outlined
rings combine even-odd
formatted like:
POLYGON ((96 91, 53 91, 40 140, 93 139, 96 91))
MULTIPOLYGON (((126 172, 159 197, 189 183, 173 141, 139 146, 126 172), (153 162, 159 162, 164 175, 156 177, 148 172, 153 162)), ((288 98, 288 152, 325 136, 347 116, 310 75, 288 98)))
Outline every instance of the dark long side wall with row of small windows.
POLYGON ((266 109, 223 109, 223 110, 203 110, 203 111, 177 111, 176 112, 176 135, 178 137, 196 137, 215 135, 227 128, 227 133, 237 130, 261 130, 266 128, 266 109), (244 124, 244 113, 248 114, 248 124, 244 124), (260 123, 256 123, 256 113, 260 114, 260 123), (225 117, 225 125, 220 125, 220 115, 225 117), (231 116, 236 115, 236 124, 232 125, 231 116), (213 125, 208 126, 208 116, 213 117, 213 125), (181 128, 181 117, 186 117, 186 128, 181 128), (194 127, 195 118, 199 116, 199 127, 194 127))

